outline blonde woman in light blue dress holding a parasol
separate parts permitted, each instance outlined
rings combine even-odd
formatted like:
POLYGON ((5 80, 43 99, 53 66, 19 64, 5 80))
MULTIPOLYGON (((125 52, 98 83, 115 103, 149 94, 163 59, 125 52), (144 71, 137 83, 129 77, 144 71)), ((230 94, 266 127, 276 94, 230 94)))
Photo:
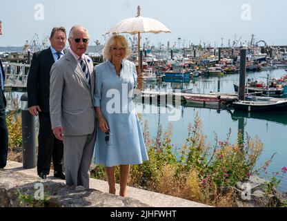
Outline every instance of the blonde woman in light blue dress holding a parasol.
MULTIPOLYGON (((113 35, 103 48, 106 62, 95 66, 94 106, 99 130, 95 144, 95 164, 105 166, 109 193, 115 194, 115 166, 120 166, 119 195, 127 196, 130 164, 148 160, 146 146, 132 99, 136 97, 135 64, 127 61, 128 42, 121 35, 113 35)), ((140 86, 140 87, 139 87, 140 86)))

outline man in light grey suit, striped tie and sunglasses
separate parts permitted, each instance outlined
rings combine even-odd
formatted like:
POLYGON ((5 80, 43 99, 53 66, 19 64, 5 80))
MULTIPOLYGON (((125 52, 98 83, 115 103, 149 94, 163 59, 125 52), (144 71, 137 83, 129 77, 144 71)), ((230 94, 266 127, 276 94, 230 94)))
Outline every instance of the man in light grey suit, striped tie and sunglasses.
POLYGON ((84 55, 88 31, 73 26, 70 50, 50 72, 50 116, 55 137, 63 140, 66 184, 89 188, 90 164, 95 146, 95 76, 92 59, 84 55))

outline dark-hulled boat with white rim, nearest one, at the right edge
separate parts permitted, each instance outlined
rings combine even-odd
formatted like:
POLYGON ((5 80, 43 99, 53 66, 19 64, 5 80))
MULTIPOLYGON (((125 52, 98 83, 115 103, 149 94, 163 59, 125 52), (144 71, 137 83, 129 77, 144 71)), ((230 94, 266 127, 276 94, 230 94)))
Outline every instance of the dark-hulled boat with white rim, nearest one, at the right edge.
POLYGON ((233 102, 232 107, 241 111, 287 111, 287 99, 268 101, 239 101, 233 102))

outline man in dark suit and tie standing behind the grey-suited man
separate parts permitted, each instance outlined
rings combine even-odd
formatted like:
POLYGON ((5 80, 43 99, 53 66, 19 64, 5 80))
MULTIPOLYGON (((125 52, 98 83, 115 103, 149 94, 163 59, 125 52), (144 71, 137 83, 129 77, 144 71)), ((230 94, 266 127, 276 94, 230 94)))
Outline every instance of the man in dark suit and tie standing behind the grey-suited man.
POLYGON ((50 48, 34 53, 30 66, 27 90, 28 108, 31 115, 39 115, 39 149, 37 172, 46 179, 50 173, 51 159, 54 166, 54 177, 65 179, 63 173, 63 142, 52 133, 50 120, 50 70, 52 65, 64 55, 66 46, 66 29, 53 28, 50 35, 50 48))

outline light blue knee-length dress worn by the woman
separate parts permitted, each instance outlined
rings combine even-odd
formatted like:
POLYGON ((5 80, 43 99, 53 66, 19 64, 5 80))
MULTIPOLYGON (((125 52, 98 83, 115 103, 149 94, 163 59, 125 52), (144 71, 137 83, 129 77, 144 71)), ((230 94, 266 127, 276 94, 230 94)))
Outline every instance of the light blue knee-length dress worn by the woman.
POLYGON ((108 60, 95 66, 94 106, 101 107, 110 129, 106 133, 97 130, 95 164, 118 166, 142 164, 148 160, 143 133, 132 99, 137 87, 135 64, 123 60, 118 76, 115 66, 108 60))

